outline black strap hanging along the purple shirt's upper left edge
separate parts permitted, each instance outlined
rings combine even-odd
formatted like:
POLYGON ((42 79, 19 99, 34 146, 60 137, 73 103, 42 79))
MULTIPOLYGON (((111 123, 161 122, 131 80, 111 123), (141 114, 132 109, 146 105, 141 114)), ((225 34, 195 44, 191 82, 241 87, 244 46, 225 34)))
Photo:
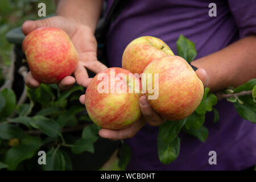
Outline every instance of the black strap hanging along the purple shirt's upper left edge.
POLYGON ((109 28, 117 16, 125 9, 129 0, 114 0, 104 20, 103 25, 96 30, 95 36, 98 43, 104 43, 109 32, 109 28))

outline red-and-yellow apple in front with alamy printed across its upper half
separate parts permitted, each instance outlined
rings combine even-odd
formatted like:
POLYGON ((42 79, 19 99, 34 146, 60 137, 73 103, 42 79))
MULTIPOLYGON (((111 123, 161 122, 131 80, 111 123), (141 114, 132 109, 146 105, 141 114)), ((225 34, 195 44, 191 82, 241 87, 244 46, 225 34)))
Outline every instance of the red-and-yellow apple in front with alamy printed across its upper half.
MULTIPOLYGON (((108 68, 98 73, 90 82, 85 92, 85 107, 89 114, 89 117, 98 126, 105 129, 118 130, 123 129, 131 123, 141 118, 141 109, 139 107, 139 97, 141 96, 141 81, 139 78, 133 76, 133 81, 137 80, 139 84, 139 93, 99 93, 97 90, 98 84, 102 80, 98 80, 98 76, 101 73, 108 75, 108 84, 110 85, 110 69, 114 69, 115 75, 118 73, 124 73, 126 77, 128 74, 132 74, 123 68, 108 68)), ((117 80, 111 80, 113 85, 117 85, 117 80)), ((127 81, 123 81, 123 84, 129 85, 127 81)), ((134 85, 134 84, 133 84, 134 85)), ((102 87, 103 88, 103 87, 102 87)), ((135 85, 134 85, 135 88, 135 85)))

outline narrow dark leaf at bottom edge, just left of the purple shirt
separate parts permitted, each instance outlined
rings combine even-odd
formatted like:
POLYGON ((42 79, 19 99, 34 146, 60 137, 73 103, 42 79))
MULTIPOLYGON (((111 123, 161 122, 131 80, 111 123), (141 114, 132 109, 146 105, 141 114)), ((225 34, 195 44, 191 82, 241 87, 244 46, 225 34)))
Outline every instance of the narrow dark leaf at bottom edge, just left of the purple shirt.
POLYGON ((121 168, 121 170, 125 171, 131 159, 131 148, 126 144, 123 144, 118 152, 119 152, 118 166, 121 168))

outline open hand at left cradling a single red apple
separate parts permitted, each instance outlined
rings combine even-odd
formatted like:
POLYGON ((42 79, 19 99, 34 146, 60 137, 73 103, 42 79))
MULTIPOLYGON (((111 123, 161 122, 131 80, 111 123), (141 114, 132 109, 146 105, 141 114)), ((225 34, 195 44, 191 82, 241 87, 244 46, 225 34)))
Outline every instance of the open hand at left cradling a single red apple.
MULTIPOLYGON (((87 87, 92 78, 88 77, 85 67, 94 73, 98 73, 107 68, 97 60, 97 41, 91 28, 88 26, 76 23, 74 20, 64 18, 63 16, 53 16, 43 20, 27 20, 23 23, 22 31, 24 35, 27 35, 30 31, 39 27, 56 27, 67 32, 79 55, 79 63, 74 72, 76 79, 72 76, 63 78, 58 84, 60 89, 69 89, 75 82, 87 87)), ((37 88, 40 85, 40 83, 32 77, 31 72, 27 74, 25 82, 30 88, 37 88)))

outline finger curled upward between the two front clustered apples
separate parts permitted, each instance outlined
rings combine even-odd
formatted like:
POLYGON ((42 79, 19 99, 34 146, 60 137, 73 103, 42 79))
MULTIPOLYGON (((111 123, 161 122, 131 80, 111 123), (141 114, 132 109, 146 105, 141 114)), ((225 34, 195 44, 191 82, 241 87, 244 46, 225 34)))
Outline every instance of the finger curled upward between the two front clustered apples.
POLYGON ((139 98, 139 105, 141 106, 143 116, 151 126, 159 126, 164 123, 164 118, 150 106, 146 96, 139 98))

